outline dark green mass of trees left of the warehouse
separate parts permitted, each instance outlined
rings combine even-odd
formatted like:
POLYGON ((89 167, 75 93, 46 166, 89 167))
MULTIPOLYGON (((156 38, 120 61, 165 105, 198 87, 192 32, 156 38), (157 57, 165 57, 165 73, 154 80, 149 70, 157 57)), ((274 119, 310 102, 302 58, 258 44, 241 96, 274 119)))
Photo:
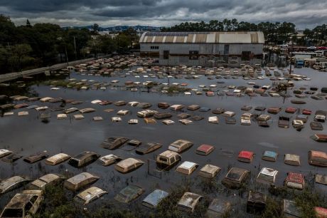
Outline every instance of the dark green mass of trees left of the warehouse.
POLYGON ((136 31, 127 29, 114 35, 100 36, 99 26, 92 29, 61 28, 56 24, 16 26, 9 16, 0 14, 0 74, 55 63, 74 61, 124 52, 138 42, 136 31))

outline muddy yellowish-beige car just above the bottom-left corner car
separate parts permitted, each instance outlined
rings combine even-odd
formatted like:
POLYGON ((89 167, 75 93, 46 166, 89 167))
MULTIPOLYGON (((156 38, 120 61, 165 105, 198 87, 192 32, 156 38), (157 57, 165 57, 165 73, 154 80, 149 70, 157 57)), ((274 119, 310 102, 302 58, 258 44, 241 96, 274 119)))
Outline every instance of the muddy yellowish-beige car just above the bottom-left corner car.
POLYGON ((48 185, 58 185, 63 180, 65 180, 65 177, 63 175, 49 173, 31 182, 31 185, 29 185, 28 189, 45 190, 45 187, 47 187, 48 185))

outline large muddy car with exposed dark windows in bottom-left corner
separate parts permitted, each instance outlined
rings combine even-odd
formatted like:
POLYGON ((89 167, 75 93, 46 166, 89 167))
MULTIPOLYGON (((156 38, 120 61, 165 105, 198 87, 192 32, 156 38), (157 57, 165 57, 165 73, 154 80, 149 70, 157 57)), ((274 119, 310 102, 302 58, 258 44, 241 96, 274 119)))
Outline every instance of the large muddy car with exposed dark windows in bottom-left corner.
POLYGON ((24 190, 16 194, 1 213, 0 217, 23 217, 31 218, 36 214, 41 202, 43 192, 41 190, 24 190))

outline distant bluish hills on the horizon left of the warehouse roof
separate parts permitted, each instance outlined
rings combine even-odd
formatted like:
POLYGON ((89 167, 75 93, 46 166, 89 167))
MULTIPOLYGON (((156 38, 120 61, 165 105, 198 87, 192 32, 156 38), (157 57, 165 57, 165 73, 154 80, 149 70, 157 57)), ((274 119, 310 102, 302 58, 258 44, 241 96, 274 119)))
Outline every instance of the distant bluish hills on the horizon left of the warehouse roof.
MULTIPOLYGON (((65 26, 64 29, 67 28, 87 28, 92 30, 92 26, 65 26)), ((109 32, 120 32, 125 31, 127 28, 134 28, 136 31, 160 31, 161 27, 157 26, 108 26, 108 27, 101 27, 99 26, 99 31, 109 31, 109 32)))

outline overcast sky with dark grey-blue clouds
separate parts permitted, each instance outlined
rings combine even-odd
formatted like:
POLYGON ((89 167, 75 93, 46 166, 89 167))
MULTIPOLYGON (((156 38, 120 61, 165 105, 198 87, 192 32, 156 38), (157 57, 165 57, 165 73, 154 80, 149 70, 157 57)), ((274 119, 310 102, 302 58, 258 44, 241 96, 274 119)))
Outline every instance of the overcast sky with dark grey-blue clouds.
POLYGON ((326 0, 1 0, 15 24, 172 26, 183 21, 290 21, 297 28, 327 23, 326 0))

